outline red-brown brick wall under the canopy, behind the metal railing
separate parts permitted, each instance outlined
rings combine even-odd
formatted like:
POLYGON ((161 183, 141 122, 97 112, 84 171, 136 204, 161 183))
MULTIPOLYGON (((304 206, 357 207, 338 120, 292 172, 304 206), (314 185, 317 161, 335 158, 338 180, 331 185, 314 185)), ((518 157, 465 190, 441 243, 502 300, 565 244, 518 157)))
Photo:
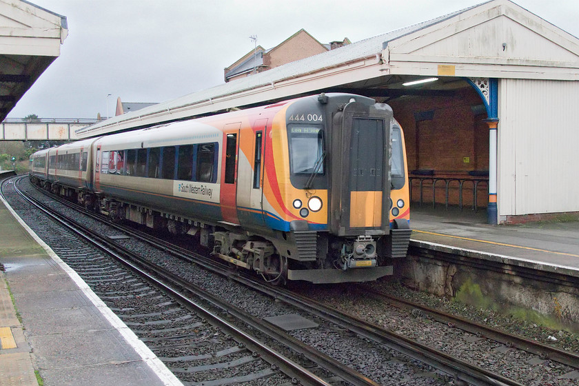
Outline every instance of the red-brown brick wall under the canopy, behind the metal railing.
MULTIPOLYGON (((486 114, 473 112, 481 105, 475 90, 459 91, 455 96, 412 96, 389 101, 394 117, 404 130, 408 170, 433 170, 423 181, 423 202, 432 203, 433 179, 480 180, 487 176, 469 176, 469 172, 489 170, 489 128, 486 114), (428 112, 428 113, 427 113, 428 112), (478 114, 478 115, 476 115, 478 114)), ((412 176, 412 173, 411 173, 412 176)), ((459 183, 449 183, 449 204, 459 203, 459 183)), ((486 207, 488 185, 478 184, 477 205, 486 207)), ((420 198, 419 181, 412 185, 412 201, 420 198)), ((471 207, 474 181, 463 183, 463 205, 471 207)), ((446 201, 445 181, 436 182, 436 203, 446 201)))

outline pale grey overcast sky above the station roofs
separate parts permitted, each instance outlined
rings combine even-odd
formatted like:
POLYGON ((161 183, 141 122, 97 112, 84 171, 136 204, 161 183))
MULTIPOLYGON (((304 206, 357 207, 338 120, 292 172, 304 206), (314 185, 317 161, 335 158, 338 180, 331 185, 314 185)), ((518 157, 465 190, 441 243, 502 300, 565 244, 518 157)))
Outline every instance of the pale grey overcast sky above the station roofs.
MULTIPOLYGON (((61 56, 9 117, 96 118, 223 83, 223 68, 304 28, 321 43, 360 41, 483 0, 30 0, 68 19, 61 56), (111 96, 107 97, 108 94, 111 96)), ((579 37, 579 1, 515 0, 579 37)))

